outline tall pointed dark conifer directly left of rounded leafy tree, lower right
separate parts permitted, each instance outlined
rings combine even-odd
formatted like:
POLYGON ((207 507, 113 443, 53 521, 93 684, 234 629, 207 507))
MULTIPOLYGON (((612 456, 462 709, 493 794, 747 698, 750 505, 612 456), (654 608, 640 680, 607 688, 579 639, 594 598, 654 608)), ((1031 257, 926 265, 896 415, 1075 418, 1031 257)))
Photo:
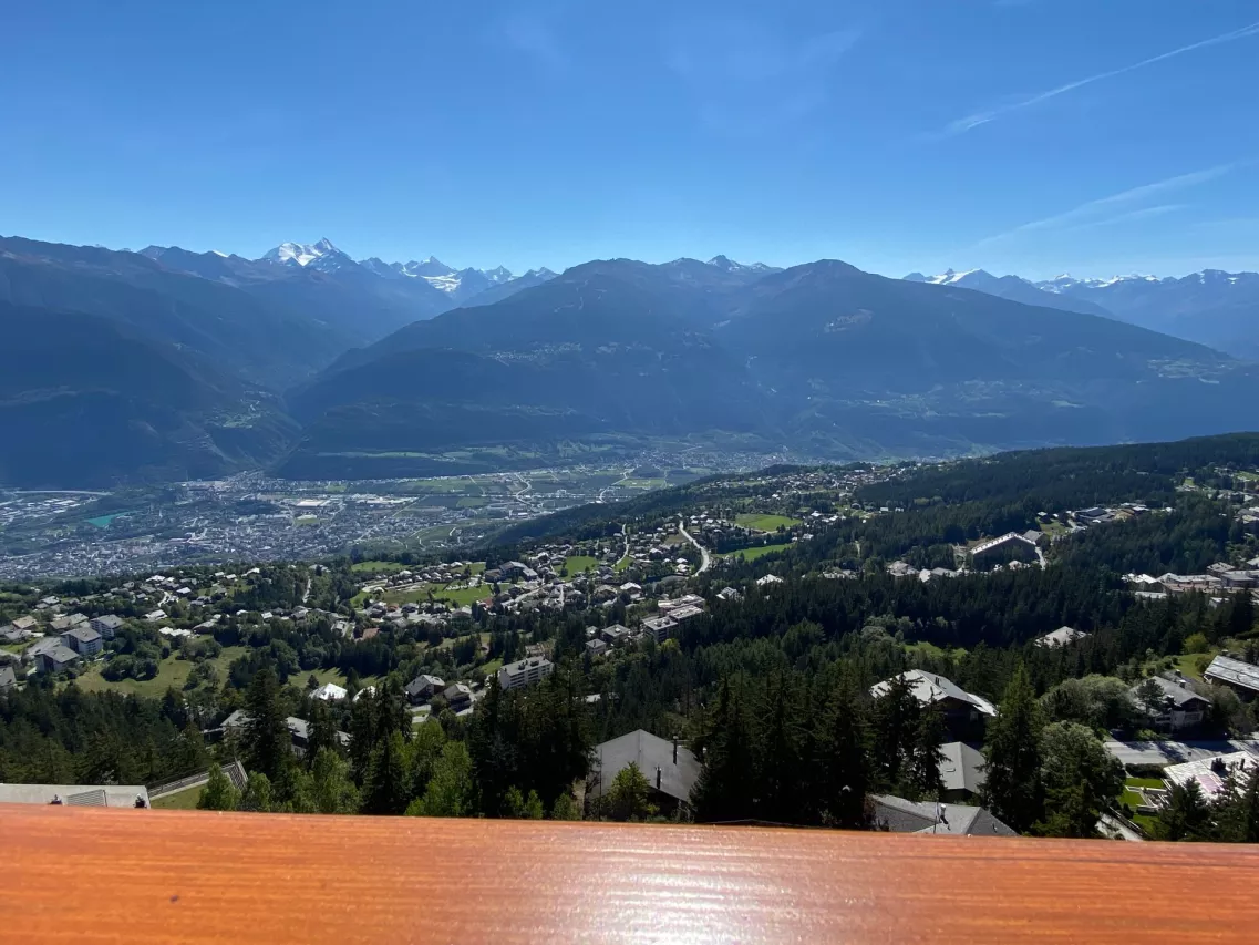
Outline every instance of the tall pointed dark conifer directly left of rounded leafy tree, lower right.
POLYGON ((983 804, 1019 833, 1044 818, 1040 703, 1020 664, 1006 687, 997 717, 988 722, 983 804))

